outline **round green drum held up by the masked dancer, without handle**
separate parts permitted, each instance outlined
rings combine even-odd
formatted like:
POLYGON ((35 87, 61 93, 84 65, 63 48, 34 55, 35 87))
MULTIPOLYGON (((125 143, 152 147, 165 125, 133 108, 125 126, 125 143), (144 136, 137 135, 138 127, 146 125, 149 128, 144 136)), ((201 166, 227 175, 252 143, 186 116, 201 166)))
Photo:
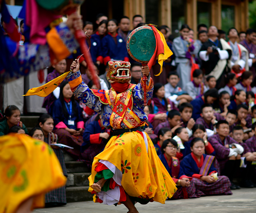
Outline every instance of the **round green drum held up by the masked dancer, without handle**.
POLYGON ((156 49, 156 39, 150 26, 134 29, 127 39, 127 51, 131 58, 147 64, 156 49))

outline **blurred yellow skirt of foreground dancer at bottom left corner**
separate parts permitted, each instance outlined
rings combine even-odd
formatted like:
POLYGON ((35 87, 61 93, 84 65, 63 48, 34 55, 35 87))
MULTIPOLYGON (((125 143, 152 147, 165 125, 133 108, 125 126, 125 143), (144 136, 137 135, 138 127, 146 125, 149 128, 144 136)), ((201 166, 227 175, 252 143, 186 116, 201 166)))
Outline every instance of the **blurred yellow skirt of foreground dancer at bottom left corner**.
POLYGON ((66 183, 52 148, 23 134, 0 137, 0 213, 14 213, 34 197, 32 209, 44 207, 45 193, 66 183))

